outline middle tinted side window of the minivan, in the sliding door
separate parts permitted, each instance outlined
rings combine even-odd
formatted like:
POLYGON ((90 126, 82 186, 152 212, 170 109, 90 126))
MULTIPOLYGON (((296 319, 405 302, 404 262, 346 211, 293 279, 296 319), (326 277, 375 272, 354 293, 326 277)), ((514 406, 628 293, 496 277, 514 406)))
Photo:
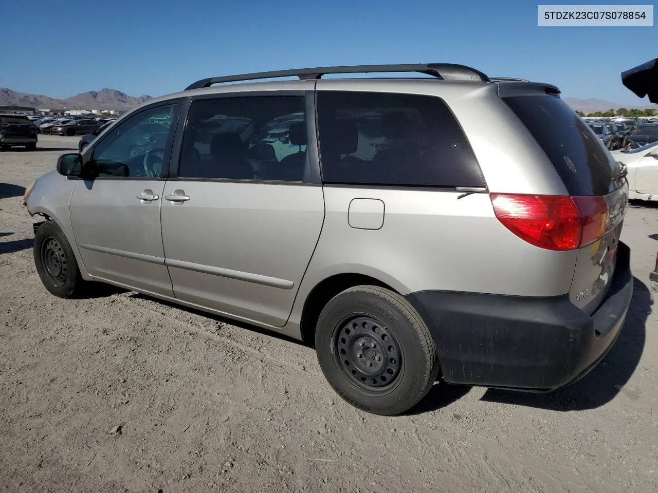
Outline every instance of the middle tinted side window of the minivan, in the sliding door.
POLYGON ((178 175, 302 181, 307 145, 304 107, 301 96, 193 101, 178 175))

